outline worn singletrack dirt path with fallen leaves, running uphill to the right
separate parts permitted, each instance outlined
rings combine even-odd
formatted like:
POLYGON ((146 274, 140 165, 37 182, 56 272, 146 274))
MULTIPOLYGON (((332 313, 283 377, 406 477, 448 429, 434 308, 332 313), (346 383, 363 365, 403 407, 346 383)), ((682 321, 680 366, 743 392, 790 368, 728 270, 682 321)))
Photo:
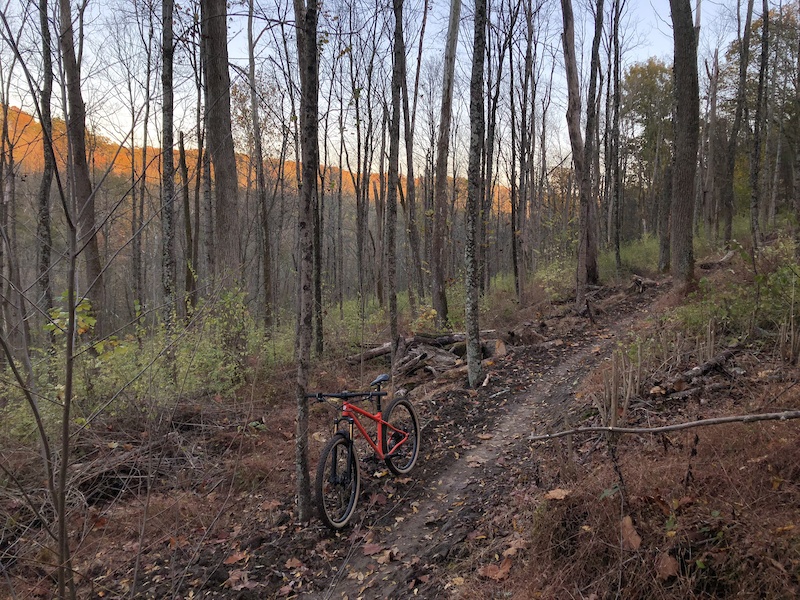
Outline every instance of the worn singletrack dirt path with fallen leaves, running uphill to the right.
MULTIPOLYGON (((508 494, 514 485, 548 489, 552 483, 540 481, 530 436, 573 423, 576 389, 650 315, 653 297, 628 296, 582 333, 548 349, 519 348, 498 361, 490 367, 489 384, 468 397, 473 416, 478 413, 470 431, 459 431, 450 415, 449 421, 424 415, 422 452, 411 481, 393 494, 394 502, 381 503, 380 490, 370 492, 369 483, 362 489, 359 520, 333 540, 349 545, 347 550, 332 565, 330 579, 302 597, 441 598, 457 592, 448 581, 453 574, 444 572, 447 563, 463 560, 470 542, 489 529, 494 535, 513 532, 508 494), (489 414, 490 406, 495 414, 489 414)), ((366 467, 362 478, 369 482, 366 467)))

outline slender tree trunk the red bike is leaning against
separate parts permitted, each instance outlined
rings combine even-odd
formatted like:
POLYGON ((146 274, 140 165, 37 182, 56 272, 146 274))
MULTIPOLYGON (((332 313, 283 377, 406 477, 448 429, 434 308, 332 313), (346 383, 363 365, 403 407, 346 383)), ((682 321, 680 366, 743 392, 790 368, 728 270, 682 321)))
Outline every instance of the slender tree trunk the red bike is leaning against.
POLYGON ((300 146, 302 184, 298 210, 298 311, 297 311, 297 430, 295 471, 297 475, 297 513, 300 521, 311 518, 311 482, 308 474, 308 399, 305 397, 311 368, 312 301, 314 269, 314 198, 319 169, 317 54, 317 4, 294 0, 297 30, 297 61, 300 71, 300 146))

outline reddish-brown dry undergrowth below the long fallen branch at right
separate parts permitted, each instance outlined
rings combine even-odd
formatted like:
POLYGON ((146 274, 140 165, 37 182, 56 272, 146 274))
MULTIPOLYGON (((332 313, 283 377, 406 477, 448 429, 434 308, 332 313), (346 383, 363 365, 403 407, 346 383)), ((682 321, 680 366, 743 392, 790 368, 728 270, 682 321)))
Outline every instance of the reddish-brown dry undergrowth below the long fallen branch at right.
POLYGON ((532 515, 517 597, 797 597, 798 435, 729 425, 620 442, 618 471, 564 482, 532 515))

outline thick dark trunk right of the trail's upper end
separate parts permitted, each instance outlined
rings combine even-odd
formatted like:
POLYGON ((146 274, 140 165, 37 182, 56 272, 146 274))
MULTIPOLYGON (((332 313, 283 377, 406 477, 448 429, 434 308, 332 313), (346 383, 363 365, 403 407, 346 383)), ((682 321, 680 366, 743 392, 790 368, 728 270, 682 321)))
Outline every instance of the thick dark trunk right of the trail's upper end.
POLYGON ((672 272, 687 287, 694 280, 692 249, 700 134, 700 88, 697 75, 697 33, 689 0, 670 0, 675 43, 675 158, 672 184, 672 272))

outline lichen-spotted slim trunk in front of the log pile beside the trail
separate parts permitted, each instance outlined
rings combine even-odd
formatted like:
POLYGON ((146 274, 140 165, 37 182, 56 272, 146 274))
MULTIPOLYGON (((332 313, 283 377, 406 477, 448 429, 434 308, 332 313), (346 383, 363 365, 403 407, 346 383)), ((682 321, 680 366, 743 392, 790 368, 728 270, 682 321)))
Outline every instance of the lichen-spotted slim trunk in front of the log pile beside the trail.
POLYGON ((467 169, 467 239, 465 245, 466 264, 466 328, 467 328, 467 377, 472 388, 481 379, 481 340, 478 319, 478 299, 480 296, 478 241, 478 220, 481 209, 481 190, 484 182, 481 176, 483 156, 484 113, 483 113, 483 66, 486 57, 486 0, 475 0, 475 28, 472 52, 472 75, 469 86, 469 166, 467 169))

